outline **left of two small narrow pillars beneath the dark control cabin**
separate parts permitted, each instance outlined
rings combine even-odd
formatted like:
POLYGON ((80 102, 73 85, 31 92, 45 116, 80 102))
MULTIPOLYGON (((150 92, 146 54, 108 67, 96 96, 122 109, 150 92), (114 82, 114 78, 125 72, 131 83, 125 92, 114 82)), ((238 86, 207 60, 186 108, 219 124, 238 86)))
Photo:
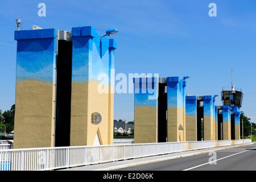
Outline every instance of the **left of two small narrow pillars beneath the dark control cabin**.
POLYGON ((223 110, 223 139, 231 139, 231 112, 230 106, 222 106, 223 110))

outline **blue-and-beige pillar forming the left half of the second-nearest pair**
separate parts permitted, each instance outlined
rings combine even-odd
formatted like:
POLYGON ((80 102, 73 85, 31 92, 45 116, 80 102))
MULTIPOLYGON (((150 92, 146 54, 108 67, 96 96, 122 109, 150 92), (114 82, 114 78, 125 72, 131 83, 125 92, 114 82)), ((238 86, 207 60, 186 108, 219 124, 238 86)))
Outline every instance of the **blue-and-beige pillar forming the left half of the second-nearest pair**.
POLYGON ((158 79, 134 78, 134 142, 158 142, 158 79))

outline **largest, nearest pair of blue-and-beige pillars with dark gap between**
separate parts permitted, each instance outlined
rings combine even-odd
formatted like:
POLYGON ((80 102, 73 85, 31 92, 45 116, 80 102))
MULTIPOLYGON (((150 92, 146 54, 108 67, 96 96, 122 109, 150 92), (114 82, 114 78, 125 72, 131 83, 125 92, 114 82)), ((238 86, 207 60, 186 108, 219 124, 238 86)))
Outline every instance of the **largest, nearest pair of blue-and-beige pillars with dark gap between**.
POLYGON ((20 30, 15 40, 14 148, 112 144, 115 40, 91 26, 20 30))

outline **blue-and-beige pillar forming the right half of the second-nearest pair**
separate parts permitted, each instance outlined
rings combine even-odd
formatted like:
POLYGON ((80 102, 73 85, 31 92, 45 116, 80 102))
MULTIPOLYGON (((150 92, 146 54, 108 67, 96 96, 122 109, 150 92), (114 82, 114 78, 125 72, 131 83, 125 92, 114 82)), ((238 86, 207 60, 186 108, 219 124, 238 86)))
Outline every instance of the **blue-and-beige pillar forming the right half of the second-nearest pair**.
POLYGON ((186 81, 180 81, 179 77, 167 78, 168 142, 185 141, 185 83, 186 81))

